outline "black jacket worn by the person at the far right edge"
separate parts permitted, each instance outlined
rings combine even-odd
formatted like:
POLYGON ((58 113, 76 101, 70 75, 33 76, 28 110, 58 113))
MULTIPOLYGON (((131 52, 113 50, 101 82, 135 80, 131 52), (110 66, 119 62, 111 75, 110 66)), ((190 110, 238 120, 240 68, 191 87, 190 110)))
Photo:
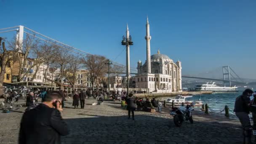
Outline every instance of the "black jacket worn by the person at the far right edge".
POLYGON ((235 108, 234 108, 234 112, 246 112, 246 113, 250 113, 250 106, 248 106, 248 104, 250 104, 250 97, 249 96, 245 96, 245 95, 241 95, 238 96, 235 99, 235 108))

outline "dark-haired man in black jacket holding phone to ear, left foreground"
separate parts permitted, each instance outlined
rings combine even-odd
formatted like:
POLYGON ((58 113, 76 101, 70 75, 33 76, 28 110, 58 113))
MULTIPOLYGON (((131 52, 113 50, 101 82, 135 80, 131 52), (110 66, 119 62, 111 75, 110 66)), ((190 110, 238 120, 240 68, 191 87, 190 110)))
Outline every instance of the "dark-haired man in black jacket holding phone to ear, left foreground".
POLYGON ((49 93, 42 104, 24 113, 19 144, 61 144, 61 136, 69 134, 61 117, 61 100, 59 93, 49 93))

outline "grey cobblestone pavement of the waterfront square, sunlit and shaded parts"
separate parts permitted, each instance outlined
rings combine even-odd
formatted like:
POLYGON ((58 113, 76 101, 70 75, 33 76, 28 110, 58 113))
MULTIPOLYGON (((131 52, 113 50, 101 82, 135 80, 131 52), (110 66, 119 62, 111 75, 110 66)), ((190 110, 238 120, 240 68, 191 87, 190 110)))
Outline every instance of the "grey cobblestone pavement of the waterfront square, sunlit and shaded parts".
MULTIPOLYGON (((195 111, 194 124, 177 128, 167 108, 163 113, 136 111, 133 121, 120 102, 93 106, 92 101, 85 101, 85 109, 66 102, 64 119, 71 133, 61 137, 62 144, 242 144, 240 123, 224 115, 195 111)), ((17 143, 21 112, 0 113, 0 144, 17 143)))

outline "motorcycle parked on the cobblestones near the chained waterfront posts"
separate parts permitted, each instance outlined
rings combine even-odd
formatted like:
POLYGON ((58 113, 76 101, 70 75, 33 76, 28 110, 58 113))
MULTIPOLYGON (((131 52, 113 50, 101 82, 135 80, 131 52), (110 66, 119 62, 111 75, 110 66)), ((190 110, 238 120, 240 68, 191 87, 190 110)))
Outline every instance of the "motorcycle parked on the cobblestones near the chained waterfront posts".
POLYGON ((193 118, 191 115, 192 110, 192 106, 191 105, 187 105, 187 106, 181 106, 181 107, 173 107, 171 114, 173 116, 173 122, 176 126, 180 127, 182 125, 182 122, 189 120, 190 123, 193 123, 193 118))

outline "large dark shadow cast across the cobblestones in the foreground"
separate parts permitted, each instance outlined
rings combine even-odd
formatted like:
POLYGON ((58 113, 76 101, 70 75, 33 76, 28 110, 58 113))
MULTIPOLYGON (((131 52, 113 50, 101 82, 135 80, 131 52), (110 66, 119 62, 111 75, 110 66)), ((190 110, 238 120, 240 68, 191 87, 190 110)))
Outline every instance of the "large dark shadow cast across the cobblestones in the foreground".
POLYGON ((195 120, 194 124, 185 122, 178 128, 170 117, 136 115, 136 112, 135 121, 128 120, 126 115, 78 115, 90 117, 65 119, 71 133, 61 138, 63 144, 242 144, 242 133, 233 124, 223 127, 195 120))

